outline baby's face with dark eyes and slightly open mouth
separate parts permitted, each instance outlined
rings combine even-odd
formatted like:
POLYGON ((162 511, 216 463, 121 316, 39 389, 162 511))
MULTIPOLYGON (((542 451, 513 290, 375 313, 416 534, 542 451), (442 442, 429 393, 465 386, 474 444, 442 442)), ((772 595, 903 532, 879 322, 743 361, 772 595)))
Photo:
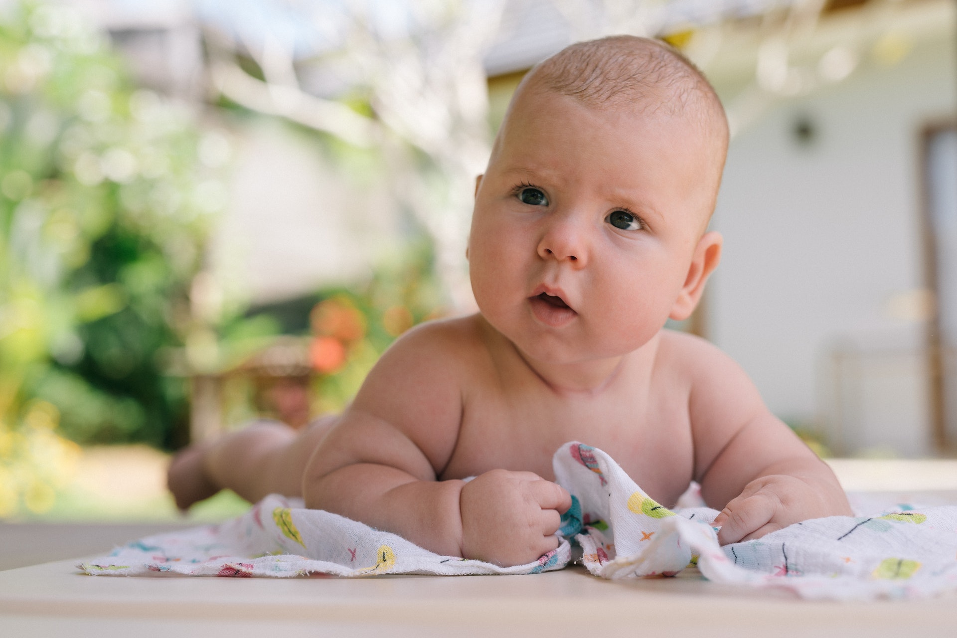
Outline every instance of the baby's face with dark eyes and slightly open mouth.
POLYGON ((689 121, 525 90, 476 191, 482 315, 548 363, 643 345, 676 314, 714 202, 713 158, 689 121))

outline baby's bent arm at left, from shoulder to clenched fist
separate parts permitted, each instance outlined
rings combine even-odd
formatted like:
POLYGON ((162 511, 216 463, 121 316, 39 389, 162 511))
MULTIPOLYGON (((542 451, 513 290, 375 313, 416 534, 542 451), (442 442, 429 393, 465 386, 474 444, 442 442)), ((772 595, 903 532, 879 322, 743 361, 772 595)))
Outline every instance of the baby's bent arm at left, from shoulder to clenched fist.
POLYGON ((307 507, 438 554, 534 561, 558 546, 559 512, 570 505, 565 490, 533 473, 504 470, 468 483, 437 480, 455 450, 461 375, 474 355, 460 330, 461 323, 422 326, 389 348, 313 453, 302 494, 307 507))

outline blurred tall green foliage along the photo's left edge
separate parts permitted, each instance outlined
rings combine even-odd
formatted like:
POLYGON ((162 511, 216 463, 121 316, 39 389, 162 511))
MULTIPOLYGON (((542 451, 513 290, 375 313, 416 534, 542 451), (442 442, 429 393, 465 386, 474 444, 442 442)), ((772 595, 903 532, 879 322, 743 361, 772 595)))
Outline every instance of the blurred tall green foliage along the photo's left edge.
POLYGON ((138 90, 68 6, 0 12, 8 471, 26 462, 34 430, 169 447, 185 423, 185 381, 165 374, 162 355, 193 329, 189 285, 225 199, 193 116, 138 90), (28 423, 37 409, 44 428, 28 423))

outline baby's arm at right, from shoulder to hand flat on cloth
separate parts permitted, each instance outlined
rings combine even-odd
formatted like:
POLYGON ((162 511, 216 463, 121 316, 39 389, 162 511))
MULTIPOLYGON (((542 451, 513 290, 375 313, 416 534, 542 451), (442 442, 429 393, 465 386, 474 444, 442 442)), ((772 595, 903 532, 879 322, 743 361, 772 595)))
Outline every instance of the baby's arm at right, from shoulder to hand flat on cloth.
POLYGON ((851 516, 835 474, 768 411, 744 370, 699 342, 689 401, 701 495, 722 543, 757 539, 809 518, 851 516))

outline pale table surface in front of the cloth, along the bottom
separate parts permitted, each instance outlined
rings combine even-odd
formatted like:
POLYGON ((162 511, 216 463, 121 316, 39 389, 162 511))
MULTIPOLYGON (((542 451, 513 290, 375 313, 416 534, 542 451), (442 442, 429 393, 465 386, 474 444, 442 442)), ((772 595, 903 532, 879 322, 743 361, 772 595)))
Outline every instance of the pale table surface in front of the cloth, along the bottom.
POLYGON ((0 572, 0 635, 953 636, 957 596, 817 603, 673 579, 605 581, 582 567, 528 576, 366 579, 84 576, 74 561, 0 572))

